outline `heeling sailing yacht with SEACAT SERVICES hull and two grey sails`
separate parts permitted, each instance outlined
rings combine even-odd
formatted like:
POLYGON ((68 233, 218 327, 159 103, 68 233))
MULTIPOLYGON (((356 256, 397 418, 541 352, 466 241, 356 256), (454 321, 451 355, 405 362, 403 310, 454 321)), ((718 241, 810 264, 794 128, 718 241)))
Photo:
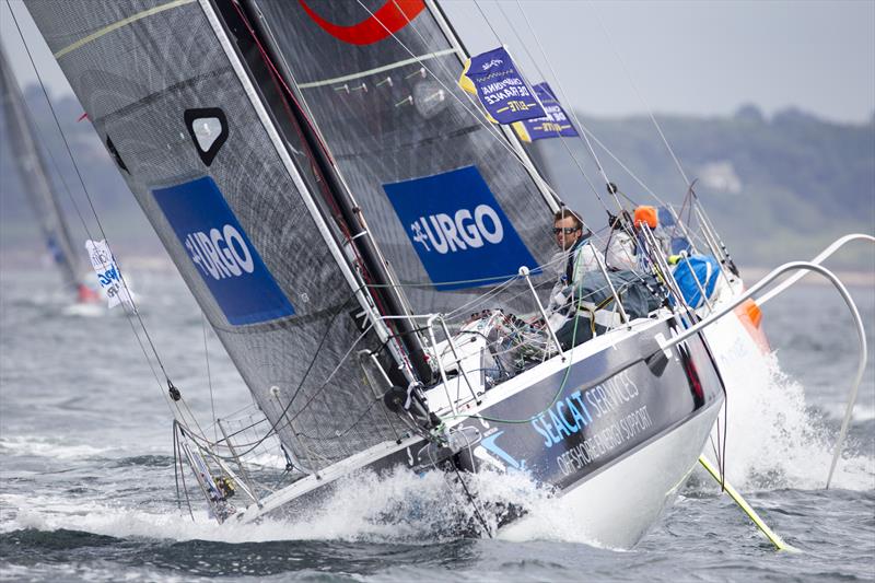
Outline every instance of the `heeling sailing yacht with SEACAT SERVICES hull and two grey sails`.
POLYGON ((606 271, 616 324, 556 341, 562 201, 457 86, 435 2, 25 4, 262 416, 211 439, 166 378, 220 522, 395 467, 524 473, 610 546, 657 520, 724 401, 714 357, 672 340, 693 316, 670 287, 632 317, 606 271), (269 440, 290 471, 264 488, 269 440))

